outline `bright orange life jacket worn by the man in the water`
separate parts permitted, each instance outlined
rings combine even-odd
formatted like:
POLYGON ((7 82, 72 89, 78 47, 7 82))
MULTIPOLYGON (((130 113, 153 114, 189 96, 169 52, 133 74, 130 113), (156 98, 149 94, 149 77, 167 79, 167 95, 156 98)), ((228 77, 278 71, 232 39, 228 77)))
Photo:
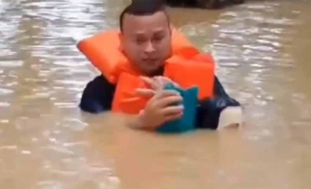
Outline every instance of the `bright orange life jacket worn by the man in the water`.
MULTIPOLYGON (((110 83, 117 85, 112 111, 137 114, 149 99, 137 96, 135 89, 149 86, 119 50, 118 33, 117 30, 99 33, 80 41, 77 47, 110 83)), ((201 54, 177 30, 172 33, 172 56, 165 62, 164 76, 183 88, 199 87, 199 99, 213 95, 214 60, 209 54, 201 54)))

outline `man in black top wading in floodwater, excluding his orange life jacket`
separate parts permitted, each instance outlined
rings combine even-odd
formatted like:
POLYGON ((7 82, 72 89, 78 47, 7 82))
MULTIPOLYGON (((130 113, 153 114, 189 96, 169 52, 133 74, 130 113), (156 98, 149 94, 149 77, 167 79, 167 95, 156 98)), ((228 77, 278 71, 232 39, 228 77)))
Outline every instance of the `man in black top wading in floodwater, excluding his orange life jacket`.
MULTIPOLYGON (((165 60, 172 55, 172 27, 164 4, 157 0, 133 1, 120 16, 120 31, 121 50, 133 66, 149 77, 142 79, 152 87, 137 89, 139 95, 152 97, 131 126, 154 129, 180 118, 183 107, 168 105, 181 102, 182 97, 161 90, 165 83, 174 83, 162 77, 165 60)), ((81 109, 92 113, 110 110, 115 89, 103 75, 95 78, 83 92, 81 109)), ((214 97, 200 101, 197 107, 197 127, 216 129, 221 113, 228 107, 240 107, 240 104, 226 94, 215 77, 214 97)))

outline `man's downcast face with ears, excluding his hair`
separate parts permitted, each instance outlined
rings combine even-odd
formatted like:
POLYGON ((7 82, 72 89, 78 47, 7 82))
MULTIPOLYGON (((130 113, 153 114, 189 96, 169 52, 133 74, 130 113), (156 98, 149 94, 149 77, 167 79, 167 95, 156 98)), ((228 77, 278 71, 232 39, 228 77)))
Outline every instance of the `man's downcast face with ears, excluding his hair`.
POLYGON ((147 16, 125 14, 120 40, 128 59, 147 75, 159 70, 171 56, 171 30, 161 11, 147 16))

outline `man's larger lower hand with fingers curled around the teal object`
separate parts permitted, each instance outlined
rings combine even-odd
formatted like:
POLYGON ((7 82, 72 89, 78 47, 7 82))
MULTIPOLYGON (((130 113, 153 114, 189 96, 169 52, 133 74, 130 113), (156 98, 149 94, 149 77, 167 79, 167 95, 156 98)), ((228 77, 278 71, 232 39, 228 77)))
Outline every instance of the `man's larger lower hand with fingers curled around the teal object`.
MULTIPOLYGON (((141 93, 141 95, 145 95, 141 93)), ((146 104, 138 116, 139 128, 154 130, 167 121, 179 119, 183 115, 183 106, 169 106, 182 102, 183 98, 176 91, 162 90, 157 92, 146 104)))

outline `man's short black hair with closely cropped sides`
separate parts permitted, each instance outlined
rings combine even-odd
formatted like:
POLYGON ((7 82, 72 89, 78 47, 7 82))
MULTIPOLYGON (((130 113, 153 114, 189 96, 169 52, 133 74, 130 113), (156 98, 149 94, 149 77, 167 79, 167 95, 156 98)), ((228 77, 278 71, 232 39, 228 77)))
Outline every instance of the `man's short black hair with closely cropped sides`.
POLYGON ((126 13, 135 16, 146 16, 159 11, 165 13, 169 23, 169 16, 165 10, 165 2, 163 0, 132 0, 132 3, 120 15, 119 24, 121 32, 123 31, 123 18, 126 13))

